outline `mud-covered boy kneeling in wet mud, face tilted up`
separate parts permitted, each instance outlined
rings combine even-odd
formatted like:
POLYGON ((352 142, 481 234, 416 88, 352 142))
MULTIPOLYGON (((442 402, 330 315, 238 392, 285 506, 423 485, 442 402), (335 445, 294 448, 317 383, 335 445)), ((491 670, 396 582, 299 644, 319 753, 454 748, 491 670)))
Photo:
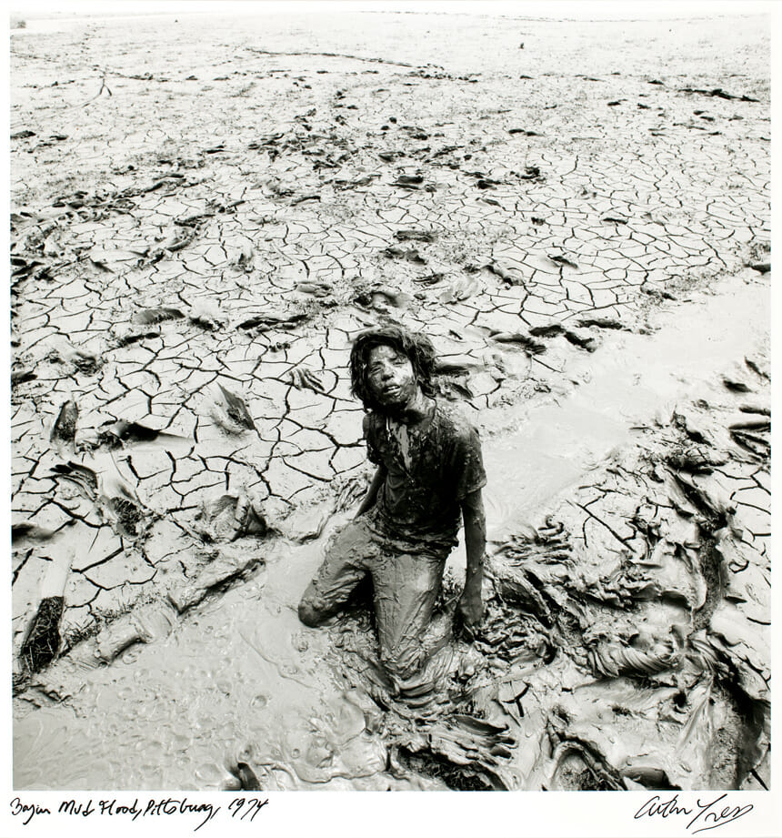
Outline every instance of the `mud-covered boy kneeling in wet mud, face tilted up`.
POLYGON ((460 520, 467 568, 457 609, 468 627, 483 615, 480 439, 456 406, 435 398, 435 362, 430 340, 402 328, 356 338, 352 391, 367 411, 366 451, 377 470, 356 519, 331 542, 298 609, 302 622, 319 625, 368 575, 381 661, 401 692, 447 641, 432 617, 460 520))

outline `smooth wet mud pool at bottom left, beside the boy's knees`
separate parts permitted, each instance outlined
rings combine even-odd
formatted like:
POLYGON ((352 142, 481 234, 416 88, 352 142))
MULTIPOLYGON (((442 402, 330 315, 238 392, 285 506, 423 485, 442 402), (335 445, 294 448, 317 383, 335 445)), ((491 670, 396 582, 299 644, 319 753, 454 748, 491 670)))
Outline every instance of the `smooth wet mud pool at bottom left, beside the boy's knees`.
POLYGON ((319 665, 327 635, 296 615, 321 546, 276 545, 254 579, 109 667, 63 661, 65 704, 16 724, 15 785, 252 787, 251 764, 265 788, 346 788, 336 778, 383 772, 355 698, 319 665))

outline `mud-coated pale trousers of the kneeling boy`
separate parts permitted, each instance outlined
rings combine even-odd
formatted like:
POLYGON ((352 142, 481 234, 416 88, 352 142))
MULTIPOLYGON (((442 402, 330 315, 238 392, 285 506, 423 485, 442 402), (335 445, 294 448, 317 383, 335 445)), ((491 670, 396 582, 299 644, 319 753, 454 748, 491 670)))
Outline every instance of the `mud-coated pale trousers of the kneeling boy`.
POLYGON ((447 553, 410 551, 386 539, 363 518, 353 520, 326 550, 299 603, 299 617, 316 626, 339 610, 368 574, 375 599, 380 660, 396 682, 408 680, 443 645, 431 625, 447 553))

